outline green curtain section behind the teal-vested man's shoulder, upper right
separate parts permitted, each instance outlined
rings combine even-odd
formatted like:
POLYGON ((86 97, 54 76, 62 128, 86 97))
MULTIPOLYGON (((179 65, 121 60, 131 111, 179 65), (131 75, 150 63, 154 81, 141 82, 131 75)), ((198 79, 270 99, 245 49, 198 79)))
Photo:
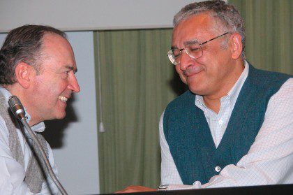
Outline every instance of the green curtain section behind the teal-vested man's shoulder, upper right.
POLYGON ((246 27, 246 58, 257 68, 293 74, 293 1, 229 0, 246 27))

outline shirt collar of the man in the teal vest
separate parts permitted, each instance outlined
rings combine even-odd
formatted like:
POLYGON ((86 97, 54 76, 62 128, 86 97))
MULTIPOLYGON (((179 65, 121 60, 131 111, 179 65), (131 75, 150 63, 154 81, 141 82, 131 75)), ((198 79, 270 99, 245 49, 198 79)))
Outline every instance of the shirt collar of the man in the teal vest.
MULTIPOLYGON (((230 102, 234 106, 234 104, 236 103, 236 100, 239 96, 239 93, 241 91, 241 88, 242 88, 246 78, 248 77, 248 71, 249 71, 249 65, 248 65, 248 62, 245 61, 244 62, 244 70, 242 71, 239 79, 233 85, 232 89, 230 89, 230 91, 227 93, 227 96, 223 96, 221 98, 221 101, 224 98, 228 98, 228 99, 230 99, 230 102)), ((204 99, 200 95, 195 95, 195 105, 197 107, 199 107, 200 109, 206 108, 206 106, 204 104, 204 99)))

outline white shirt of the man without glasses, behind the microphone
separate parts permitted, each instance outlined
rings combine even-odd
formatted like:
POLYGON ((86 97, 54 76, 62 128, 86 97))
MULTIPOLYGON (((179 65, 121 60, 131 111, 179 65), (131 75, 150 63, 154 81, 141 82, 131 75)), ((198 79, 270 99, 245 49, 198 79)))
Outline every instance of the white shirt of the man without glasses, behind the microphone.
MULTIPOLYGON (((8 101, 11 94, 2 87, 0 87, 0 92, 8 101)), ((29 121, 30 116, 28 114, 26 116, 28 117, 27 121, 29 121)), ((31 127, 31 129, 33 131, 42 132, 45 130, 45 124, 44 122, 40 122, 31 127)), ((27 144, 27 140, 24 138, 22 131, 20 131, 20 129, 16 129, 16 131, 24 154, 24 167, 12 157, 9 148, 8 129, 3 117, 0 116, 0 194, 33 194, 30 192, 27 184, 24 183, 25 172, 27 171, 29 159, 31 158, 31 149, 27 144)), ((53 153, 48 143, 47 148, 50 164, 54 173, 57 175, 57 165, 54 162, 53 153)), ((50 185, 52 193, 58 194, 59 190, 51 180, 50 175, 47 176, 47 182, 50 185)), ((39 194, 50 194, 46 182, 43 182, 42 190, 39 194)))

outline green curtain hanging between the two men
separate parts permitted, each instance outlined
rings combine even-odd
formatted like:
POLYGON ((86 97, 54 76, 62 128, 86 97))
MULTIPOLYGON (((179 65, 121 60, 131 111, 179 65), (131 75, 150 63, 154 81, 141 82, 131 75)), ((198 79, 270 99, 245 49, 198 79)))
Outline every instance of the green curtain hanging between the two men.
MULTIPOLYGON (((171 34, 171 29, 94 34, 106 129, 98 133, 101 193, 160 184, 158 122, 182 89, 173 85, 180 81, 167 59, 171 34)), ((98 97, 97 66, 96 83, 98 97)))

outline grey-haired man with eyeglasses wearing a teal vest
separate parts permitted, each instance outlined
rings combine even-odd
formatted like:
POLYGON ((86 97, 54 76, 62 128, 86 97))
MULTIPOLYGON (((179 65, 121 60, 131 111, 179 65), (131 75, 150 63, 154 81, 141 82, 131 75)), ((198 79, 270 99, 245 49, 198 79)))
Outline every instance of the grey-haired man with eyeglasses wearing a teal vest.
POLYGON ((160 118, 158 190, 293 183, 292 76, 257 70, 244 45, 224 1, 175 15, 167 55, 189 90, 160 118))

